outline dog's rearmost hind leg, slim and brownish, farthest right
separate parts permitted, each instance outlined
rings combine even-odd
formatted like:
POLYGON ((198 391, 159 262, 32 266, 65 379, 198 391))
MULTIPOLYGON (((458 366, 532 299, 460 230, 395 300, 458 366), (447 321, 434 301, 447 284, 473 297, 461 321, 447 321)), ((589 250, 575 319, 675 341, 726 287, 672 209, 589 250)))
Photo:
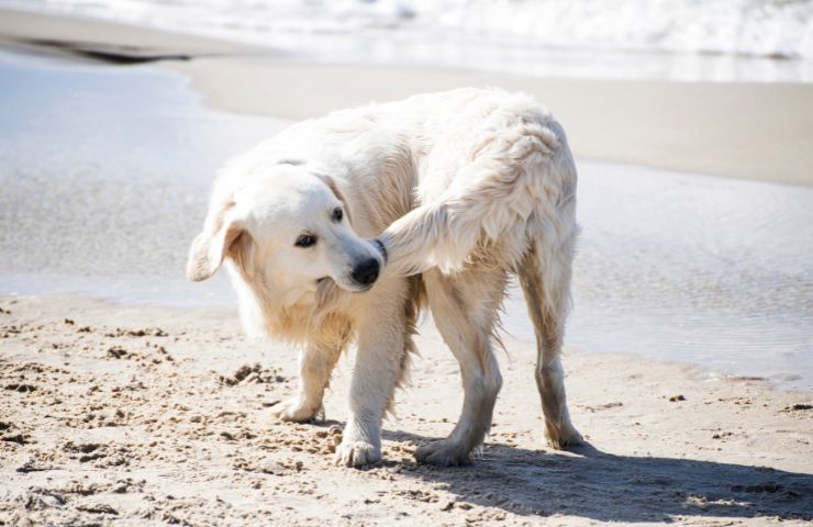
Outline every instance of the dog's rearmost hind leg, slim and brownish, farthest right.
MULTIPOLYGON (((573 229, 575 231, 575 229, 573 229)), ((575 235, 575 233, 573 233, 575 235)), ((544 250, 532 240, 517 273, 536 333, 536 385, 545 414, 545 437, 555 448, 579 445, 581 435, 570 423, 561 368, 561 344, 570 300, 573 236, 560 247, 544 250), (539 253, 546 258, 543 260, 539 253), (546 274, 547 273, 547 274, 546 274)))

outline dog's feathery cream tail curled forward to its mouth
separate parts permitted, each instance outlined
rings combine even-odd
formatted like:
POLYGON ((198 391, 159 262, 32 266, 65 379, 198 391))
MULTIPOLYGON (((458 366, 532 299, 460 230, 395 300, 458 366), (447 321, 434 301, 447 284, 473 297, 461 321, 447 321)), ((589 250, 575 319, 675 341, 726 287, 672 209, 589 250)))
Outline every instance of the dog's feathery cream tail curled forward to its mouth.
POLYGON ((553 238, 576 228, 576 166, 556 121, 523 123, 514 134, 488 137, 476 152, 439 198, 378 238, 390 272, 454 272, 482 244, 499 245, 504 261, 515 264, 528 250, 531 223, 553 238))

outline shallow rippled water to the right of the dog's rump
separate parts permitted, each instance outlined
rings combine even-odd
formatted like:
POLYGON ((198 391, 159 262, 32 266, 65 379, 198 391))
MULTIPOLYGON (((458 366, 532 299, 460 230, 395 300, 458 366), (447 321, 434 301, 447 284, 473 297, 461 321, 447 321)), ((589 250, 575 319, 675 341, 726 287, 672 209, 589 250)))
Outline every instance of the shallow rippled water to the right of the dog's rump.
MULTIPOLYGON (((570 346, 811 386, 813 189, 588 161, 579 170, 570 346)), ((531 338, 516 296, 506 328, 531 338)))

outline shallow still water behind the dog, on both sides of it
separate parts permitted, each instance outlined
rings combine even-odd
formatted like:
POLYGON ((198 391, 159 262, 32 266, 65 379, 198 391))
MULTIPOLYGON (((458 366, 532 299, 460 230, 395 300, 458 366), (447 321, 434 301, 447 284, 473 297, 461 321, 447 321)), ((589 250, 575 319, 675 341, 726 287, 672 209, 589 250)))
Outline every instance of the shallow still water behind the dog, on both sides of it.
MULTIPOLYGON (((0 54, 0 293, 233 305, 183 280, 215 168, 286 125, 177 74, 0 54)), ((579 161, 567 345, 813 388, 813 189, 579 161)), ((514 290, 505 329, 533 332, 514 290)))

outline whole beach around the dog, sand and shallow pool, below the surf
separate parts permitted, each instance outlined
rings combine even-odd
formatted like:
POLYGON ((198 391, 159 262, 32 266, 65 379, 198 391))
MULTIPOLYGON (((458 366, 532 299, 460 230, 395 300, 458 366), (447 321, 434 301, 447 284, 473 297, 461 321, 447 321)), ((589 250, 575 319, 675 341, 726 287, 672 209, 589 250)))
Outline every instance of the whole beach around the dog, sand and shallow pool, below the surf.
POLYGON ((813 519, 812 85, 325 65, 5 10, 0 42, 0 525, 813 519), (335 467, 353 357, 324 422, 279 422, 296 350, 244 338, 222 277, 182 281, 186 250, 230 155, 291 120, 461 85, 533 93, 579 157, 565 369, 589 446, 543 444, 510 300, 505 383, 474 464, 412 458, 461 402, 425 321, 385 461, 335 467))

